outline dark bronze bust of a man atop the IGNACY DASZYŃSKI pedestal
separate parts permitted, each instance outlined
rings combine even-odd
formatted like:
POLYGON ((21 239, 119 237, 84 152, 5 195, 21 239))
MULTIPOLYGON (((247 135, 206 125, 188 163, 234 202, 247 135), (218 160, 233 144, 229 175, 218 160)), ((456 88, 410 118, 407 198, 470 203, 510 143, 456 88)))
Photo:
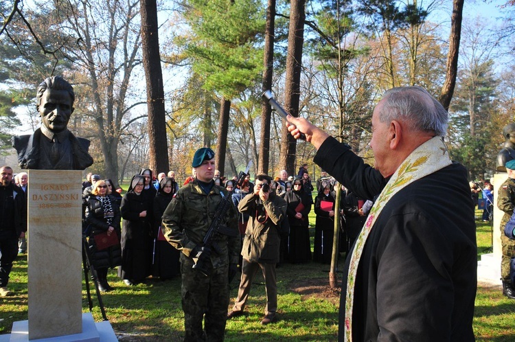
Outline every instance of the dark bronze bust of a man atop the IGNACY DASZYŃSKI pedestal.
POLYGON ((12 137, 23 169, 84 170, 93 163, 89 140, 78 138, 67 128, 73 113, 73 87, 59 76, 39 84, 36 109, 43 125, 32 135, 12 137))

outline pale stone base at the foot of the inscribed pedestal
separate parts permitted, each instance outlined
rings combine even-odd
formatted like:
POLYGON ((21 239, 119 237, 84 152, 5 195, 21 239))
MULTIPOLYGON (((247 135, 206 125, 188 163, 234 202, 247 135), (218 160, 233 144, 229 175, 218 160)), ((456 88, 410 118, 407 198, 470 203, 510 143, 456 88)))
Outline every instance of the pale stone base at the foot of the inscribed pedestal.
MULTIPOLYGON (((52 328, 52 327, 51 327, 52 328)), ((82 332, 59 337, 29 340, 29 321, 17 321, 12 324, 10 334, 0 335, 0 342, 114 342, 118 341, 109 321, 95 323, 91 313, 82 314, 82 332)))

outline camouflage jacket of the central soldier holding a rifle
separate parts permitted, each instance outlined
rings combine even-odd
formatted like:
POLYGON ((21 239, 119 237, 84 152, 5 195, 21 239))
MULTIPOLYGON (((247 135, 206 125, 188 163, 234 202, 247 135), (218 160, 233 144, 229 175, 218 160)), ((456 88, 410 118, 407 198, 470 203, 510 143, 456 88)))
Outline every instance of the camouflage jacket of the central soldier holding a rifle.
MULTIPOLYGON (((209 230, 216 208, 228 195, 227 190, 218 185, 213 185, 209 194, 206 194, 196 179, 181 187, 163 214, 162 227, 166 240, 186 257, 193 257, 190 253, 196 246, 203 245, 204 236, 209 230)), ((241 248, 238 215, 231 198, 229 202, 230 207, 222 224, 234 229, 236 233, 235 237, 221 235, 216 240, 220 254, 211 252, 214 269, 229 263, 238 264, 241 248)))

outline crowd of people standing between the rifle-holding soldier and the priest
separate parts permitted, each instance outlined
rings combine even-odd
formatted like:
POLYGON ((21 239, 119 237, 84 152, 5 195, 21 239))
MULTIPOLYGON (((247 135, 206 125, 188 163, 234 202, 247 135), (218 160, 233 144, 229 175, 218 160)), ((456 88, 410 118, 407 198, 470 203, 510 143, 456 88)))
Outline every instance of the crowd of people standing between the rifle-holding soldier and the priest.
MULTIPOLYGON (((339 185, 327 172, 321 170, 321 176, 316 183, 312 183, 307 164, 299 168, 295 176, 288 176, 286 170, 281 170, 279 176, 271 178, 271 192, 286 201, 286 220, 282 224, 279 248, 279 262, 301 264, 304 262, 321 262, 330 264, 334 240, 334 216, 340 216, 339 225, 339 253, 347 252, 358 236, 365 223, 367 214, 374 204, 358 198, 352 192, 347 192, 344 186, 339 185), (337 187, 341 186, 340 208, 335 210, 337 187), (310 212, 314 212, 314 249, 310 244, 310 212)), ((244 196, 252 193, 255 183, 247 175, 241 185, 237 185, 237 176, 227 178, 220 175, 219 170, 214 172, 214 183, 232 191, 232 200, 236 207, 244 196)), ((184 184, 191 183, 194 174, 189 176, 184 184)), ((249 215, 238 213, 238 227, 243 241, 249 215)), ((312 225, 313 223, 311 223, 312 225)), ((241 260, 241 258, 240 258, 241 260)))

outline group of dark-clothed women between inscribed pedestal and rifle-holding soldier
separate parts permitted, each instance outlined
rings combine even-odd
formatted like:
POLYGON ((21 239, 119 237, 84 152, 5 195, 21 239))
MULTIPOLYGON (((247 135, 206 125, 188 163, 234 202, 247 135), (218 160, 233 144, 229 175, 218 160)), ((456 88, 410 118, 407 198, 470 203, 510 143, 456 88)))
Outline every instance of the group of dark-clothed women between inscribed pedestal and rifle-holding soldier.
POLYGON ((161 230, 161 216, 178 189, 174 173, 155 179, 152 170, 141 169, 124 196, 113 185, 91 173, 82 183, 82 230, 100 291, 113 290, 106 275, 115 267, 127 286, 144 284, 149 276, 169 280, 179 275, 179 251, 161 230), (109 242, 100 245, 102 240, 109 242))

